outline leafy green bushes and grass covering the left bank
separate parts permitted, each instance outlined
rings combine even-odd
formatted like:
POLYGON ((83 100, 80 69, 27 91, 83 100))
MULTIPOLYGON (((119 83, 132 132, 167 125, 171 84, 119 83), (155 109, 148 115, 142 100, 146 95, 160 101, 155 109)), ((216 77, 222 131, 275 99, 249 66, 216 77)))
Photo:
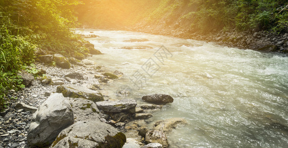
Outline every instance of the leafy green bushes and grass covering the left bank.
POLYGON ((70 56, 87 50, 71 32, 79 0, 0 0, 0 110, 9 90, 24 85, 17 74, 28 69, 35 49, 70 56))

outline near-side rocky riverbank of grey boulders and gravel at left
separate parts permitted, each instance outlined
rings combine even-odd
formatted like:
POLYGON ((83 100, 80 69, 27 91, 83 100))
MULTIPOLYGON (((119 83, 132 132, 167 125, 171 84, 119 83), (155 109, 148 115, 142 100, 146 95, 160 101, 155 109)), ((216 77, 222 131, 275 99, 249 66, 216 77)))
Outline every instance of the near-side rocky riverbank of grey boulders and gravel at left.
MULTIPOLYGON (((121 72, 82 56, 48 53, 38 55, 37 61, 38 76, 23 72, 27 87, 10 90, 9 107, 0 116, 0 148, 167 148, 166 135, 186 124, 182 118, 149 120, 154 111, 173 102, 169 95, 143 96, 147 104, 142 105, 134 99, 111 98, 102 86, 121 79, 121 72), (148 127, 147 122, 155 124, 148 127)), ((129 95, 123 90, 117 93, 123 98, 129 95)))

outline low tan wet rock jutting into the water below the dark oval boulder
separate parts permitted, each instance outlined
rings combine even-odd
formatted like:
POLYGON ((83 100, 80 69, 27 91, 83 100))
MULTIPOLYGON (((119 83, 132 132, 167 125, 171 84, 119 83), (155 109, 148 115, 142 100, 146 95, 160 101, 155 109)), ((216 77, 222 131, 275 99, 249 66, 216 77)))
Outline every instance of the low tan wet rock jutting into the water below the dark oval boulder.
POLYGON ((157 121, 154 124, 155 130, 164 132, 165 134, 170 133, 177 127, 178 124, 186 124, 187 121, 183 118, 169 118, 161 121, 157 121))

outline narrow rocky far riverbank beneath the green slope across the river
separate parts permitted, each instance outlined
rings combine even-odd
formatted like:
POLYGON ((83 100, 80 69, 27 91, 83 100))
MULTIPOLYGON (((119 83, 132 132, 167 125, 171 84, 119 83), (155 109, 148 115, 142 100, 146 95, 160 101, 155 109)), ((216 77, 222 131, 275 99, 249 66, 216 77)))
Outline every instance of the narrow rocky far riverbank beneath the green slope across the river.
POLYGON ((240 49, 252 49, 257 51, 280 52, 288 54, 288 33, 274 34, 256 30, 246 32, 237 32, 236 30, 232 30, 203 35, 191 32, 189 27, 186 29, 185 27, 180 28, 179 23, 172 24, 168 27, 159 27, 155 25, 143 26, 140 24, 134 28, 123 29, 156 35, 213 41, 220 45, 240 49))

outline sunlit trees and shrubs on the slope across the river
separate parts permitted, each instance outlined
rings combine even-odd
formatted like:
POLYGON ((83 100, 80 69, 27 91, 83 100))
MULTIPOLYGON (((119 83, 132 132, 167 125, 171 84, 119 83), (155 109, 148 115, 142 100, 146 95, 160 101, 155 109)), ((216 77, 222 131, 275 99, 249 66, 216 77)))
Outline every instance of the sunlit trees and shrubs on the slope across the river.
POLYGON ((288 32, 287 0, 83 0, 79 20, 90 27, 171 26, 191 33, 288 32), (97 9, 95 8, 97 7, 97 9))

